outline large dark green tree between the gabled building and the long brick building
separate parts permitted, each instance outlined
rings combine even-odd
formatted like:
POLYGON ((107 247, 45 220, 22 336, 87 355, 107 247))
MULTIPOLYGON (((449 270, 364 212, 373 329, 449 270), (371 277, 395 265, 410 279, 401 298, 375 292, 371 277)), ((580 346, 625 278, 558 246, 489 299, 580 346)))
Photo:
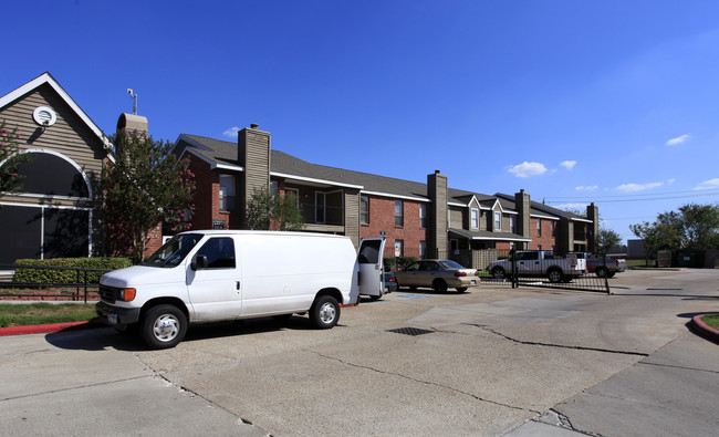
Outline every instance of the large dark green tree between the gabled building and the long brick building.
POLYGON ((132 257, 142 261, 148 233, 159 223, 178 232, 189 227, 195 206, 195 175, 178 162, 171 145, 145 133, 118 133, 114 162, 103 169, 104 208, 111 226, 132 242, 132 257))

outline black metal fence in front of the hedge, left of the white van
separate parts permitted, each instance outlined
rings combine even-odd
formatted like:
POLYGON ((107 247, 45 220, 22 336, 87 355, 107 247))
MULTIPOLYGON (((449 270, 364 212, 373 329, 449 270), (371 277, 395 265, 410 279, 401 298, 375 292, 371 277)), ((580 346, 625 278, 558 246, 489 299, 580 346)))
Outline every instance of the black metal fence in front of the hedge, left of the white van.
MULTIPOLYGON (((49 267, 49 266, 15 266, 0 264, 1 271, 12 271, 12 278, 0 281, 0 289, 8 290, 2 292, 2 296, 10 298, 37 298, 37 299, 65 299, 71 301, 84 301, 87 298, 98 296, 100 283, 98 273, 112 271, 110 269, 85 269, 77 267, 49 267), (74 282, 67 281, 15 281, 18 271, 23 269, 32 270, 51 270, 71 272, 74 282), (74 273, 72 273, 74 271, 74 273), (42 290, 42 293, 29 293, 25 290, 42 290), (17 292, 14 292, 17 291, 17 292)), ((66 275, 65 275, 66 277, 66 275)))

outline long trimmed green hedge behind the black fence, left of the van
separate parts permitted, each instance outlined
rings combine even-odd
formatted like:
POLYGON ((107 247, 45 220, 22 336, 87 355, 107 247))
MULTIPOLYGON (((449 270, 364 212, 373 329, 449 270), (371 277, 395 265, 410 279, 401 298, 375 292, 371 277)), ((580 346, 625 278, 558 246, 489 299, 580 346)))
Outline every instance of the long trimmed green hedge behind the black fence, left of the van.
MULTIPOLYGON (((19 259, 15 266, 70 267, 81 269, 117 270, 131 267, 129 258, 55 258, 51 260, 19 259)), ((86 272, 87 283, 100 282, 105 272, 86 272)), ((85 281, 85 272, 80 272, 80 282, 85 281)), ((76 270, 15 269, 13 282, 24 283, 76 283, 76 270)))

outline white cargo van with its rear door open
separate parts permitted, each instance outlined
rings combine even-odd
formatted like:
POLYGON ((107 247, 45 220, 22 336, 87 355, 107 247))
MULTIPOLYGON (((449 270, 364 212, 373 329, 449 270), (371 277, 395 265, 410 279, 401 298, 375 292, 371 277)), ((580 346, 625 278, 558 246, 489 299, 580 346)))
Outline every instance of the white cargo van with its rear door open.
POLYGON ((173 237, 143 264, 104 274, 95 308, 121 331, 136 327, 155 348, 174 347, 195 322, 306 312, 316 327, 330 329, 340 320, 341 303, 357 302, 359 293, 376 294, 372 287, 382 290, 383 283, 374 281, 362 289, 359 270, 347 237, 189 231, 173 237))

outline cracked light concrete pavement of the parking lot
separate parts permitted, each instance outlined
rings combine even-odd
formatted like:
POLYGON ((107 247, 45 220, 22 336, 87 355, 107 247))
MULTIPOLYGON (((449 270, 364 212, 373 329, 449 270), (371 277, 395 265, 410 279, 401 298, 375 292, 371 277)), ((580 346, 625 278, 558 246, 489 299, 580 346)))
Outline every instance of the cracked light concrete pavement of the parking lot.
POLYGON ((392 293, 194 327, 147 351, 112 329, 0 339, 0 420, 54 435, 713 435, 719 272, 629 271, 613 295, 392 293))

